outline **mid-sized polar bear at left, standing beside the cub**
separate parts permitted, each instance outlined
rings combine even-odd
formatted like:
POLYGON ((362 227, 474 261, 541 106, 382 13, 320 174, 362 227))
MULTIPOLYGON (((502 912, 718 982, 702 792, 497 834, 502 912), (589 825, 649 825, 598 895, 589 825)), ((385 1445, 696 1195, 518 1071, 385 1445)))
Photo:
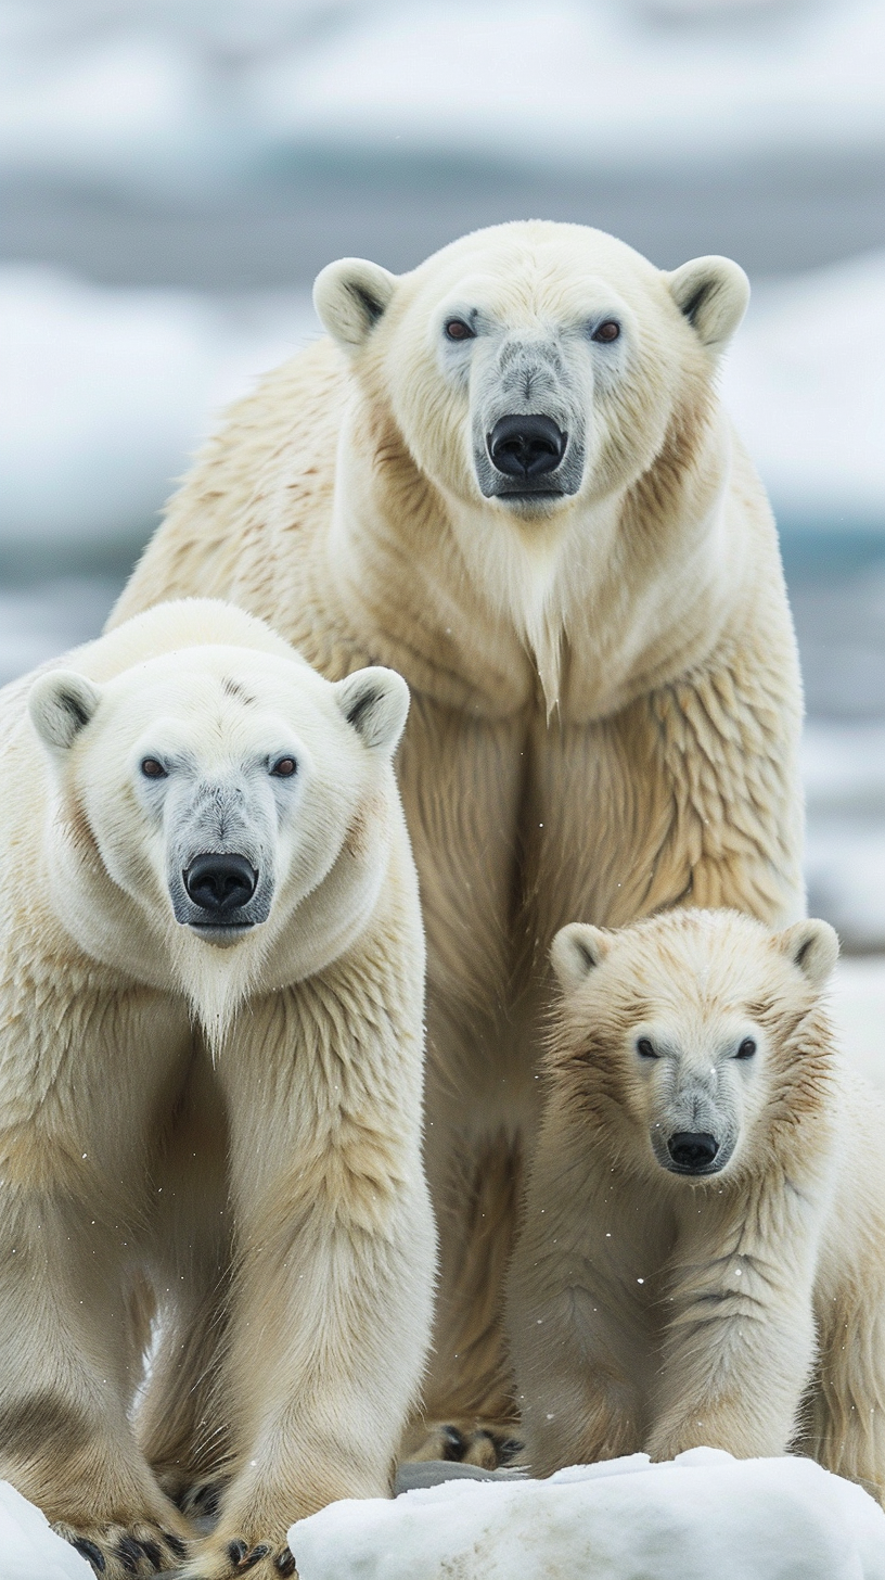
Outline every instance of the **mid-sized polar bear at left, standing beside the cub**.
POLYGON ((389 1492, 435 1270, 406 708, 210 600, 3 694, 0 1476, 104 1580, 212 1477, 202 1580, 389 1492))

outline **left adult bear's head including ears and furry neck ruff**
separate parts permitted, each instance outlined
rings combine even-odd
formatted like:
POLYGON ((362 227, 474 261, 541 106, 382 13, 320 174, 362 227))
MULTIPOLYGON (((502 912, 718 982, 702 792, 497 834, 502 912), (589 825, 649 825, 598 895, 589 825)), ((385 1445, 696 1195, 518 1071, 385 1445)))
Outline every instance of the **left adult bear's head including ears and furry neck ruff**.
POLYGON ((52 902, 87 953, 171 969, 199 1003, 209 980, 308 975, 365 924, 408 711, 392 670, 332 684, 294 653, 193 646, 101 684, 52 670, 28 711, 57 792, 52 902))

